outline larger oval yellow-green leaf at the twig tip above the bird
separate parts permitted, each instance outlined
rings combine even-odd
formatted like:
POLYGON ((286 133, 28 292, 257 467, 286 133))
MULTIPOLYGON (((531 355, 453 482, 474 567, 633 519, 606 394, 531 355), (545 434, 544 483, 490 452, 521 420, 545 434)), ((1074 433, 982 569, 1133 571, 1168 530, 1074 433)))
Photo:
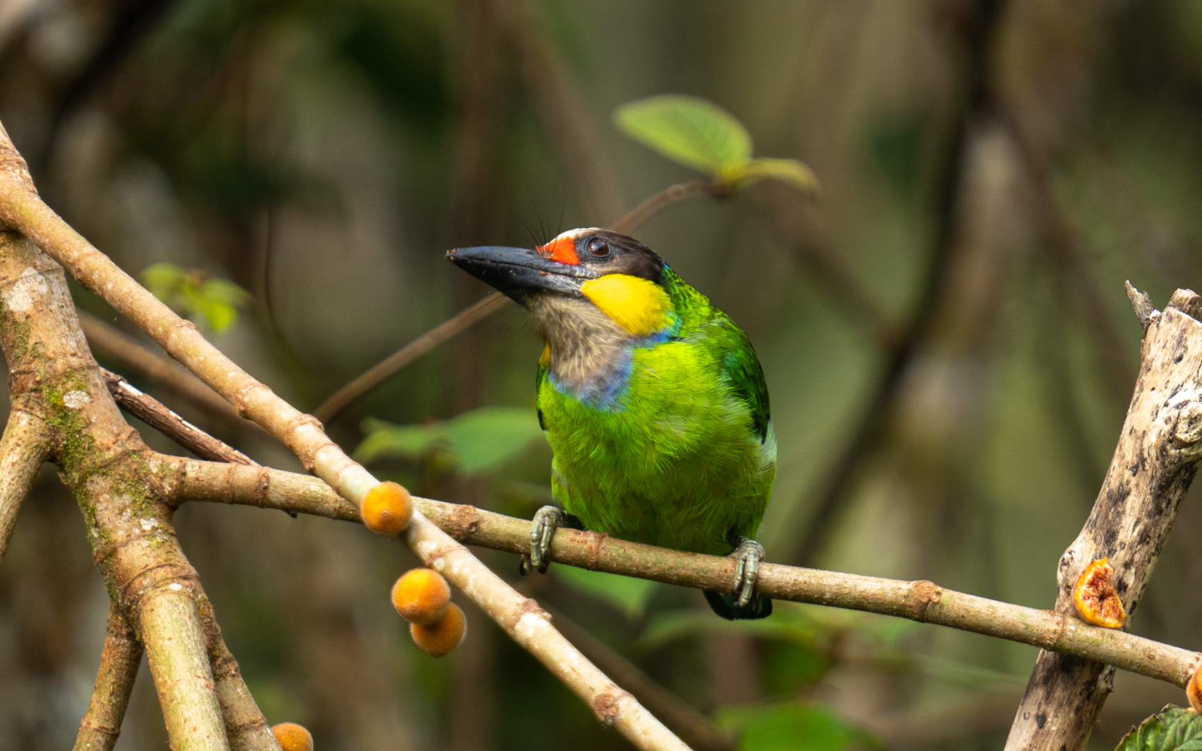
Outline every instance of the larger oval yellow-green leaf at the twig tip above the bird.
POLYGON ((696 96, 664 94, 627 102, 613 118, 635 141, 710 177, 751 159, 751 136, 743 124, 696 96))

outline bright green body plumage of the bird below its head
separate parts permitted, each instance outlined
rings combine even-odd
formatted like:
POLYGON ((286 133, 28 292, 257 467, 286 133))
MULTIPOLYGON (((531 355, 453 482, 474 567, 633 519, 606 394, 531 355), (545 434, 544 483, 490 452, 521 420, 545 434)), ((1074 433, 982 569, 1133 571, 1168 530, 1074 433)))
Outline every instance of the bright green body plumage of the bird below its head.
POLYGON ((670 282, 679 332, 631 347, 615 407, 582 404, 540 368, 552 489, 587 529, 726 554, 731 534, 755 536, 772 493, 768 392, 746 335, 674 274, 670 282))

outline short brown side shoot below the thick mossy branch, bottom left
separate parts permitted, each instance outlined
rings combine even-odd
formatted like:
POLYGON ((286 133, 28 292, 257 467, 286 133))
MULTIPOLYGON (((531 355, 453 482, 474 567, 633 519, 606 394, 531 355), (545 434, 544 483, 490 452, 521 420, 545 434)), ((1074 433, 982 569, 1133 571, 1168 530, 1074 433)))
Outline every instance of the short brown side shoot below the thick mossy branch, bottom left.
POLYGON ((130 703, 130 691, 142 664, 142 643, 120 608, 108 608, 105 650, 100 654, 96 687, 88 714, 79 723, 73 751, 112 751, 121 734, 121 721, 130 703))

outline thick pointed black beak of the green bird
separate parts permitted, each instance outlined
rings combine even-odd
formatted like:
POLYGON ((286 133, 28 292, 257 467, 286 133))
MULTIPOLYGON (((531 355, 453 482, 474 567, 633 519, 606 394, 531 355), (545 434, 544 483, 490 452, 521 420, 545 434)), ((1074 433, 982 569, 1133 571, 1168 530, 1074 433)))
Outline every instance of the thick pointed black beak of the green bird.
POLYGON ((584 266, 543 258, 525 248, 482 245, 447 251, 452 263, 476 279, 522 302, 537 293, 581 296, 581 285, 600 274, 584 266))

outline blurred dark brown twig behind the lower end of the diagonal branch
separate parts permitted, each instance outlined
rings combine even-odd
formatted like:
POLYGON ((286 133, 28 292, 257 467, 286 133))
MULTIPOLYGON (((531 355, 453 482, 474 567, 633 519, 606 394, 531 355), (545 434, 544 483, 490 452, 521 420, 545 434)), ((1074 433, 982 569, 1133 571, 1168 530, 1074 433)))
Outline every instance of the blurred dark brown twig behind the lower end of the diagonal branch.
POLYGON ((587 630, 572 622, 566 615, 554 608, 548 608, 560 632, 576 645, 584 656, 613 678, 619 686, 630 691, 649 709, 680 735, 694 751, 734 751, 734 740, 709 721, 677 695, 655 683, 650 675, 609 649, 605 642, 587 630))

